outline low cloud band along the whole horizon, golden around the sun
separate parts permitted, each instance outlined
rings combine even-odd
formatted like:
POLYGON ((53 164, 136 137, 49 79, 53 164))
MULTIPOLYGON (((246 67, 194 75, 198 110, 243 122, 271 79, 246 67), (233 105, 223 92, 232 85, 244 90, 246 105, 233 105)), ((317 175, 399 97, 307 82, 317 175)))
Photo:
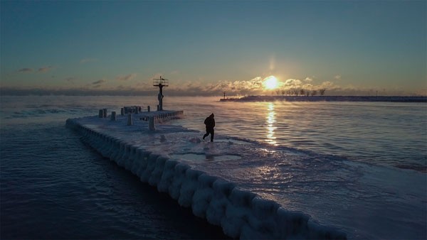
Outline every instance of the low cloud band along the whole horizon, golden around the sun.
MULTIPOLYGON (((252 80, 236 80, 229 81, 223 80, 221 82, 211 84, 201 84, 201 82, 184 82, 183 84, 174 84, 167 89, 164 89, 164 95, 169 96, 217 96, 222 97, 223 92, 226 92, 226 96, 242 96, 242 95, 257 95, 257 94, 272 94, 271 91, 264 91, 262 87, 263 78, 255 77, 252 80)), ((285 81, 298 84, 299 80, 285 81)), ((97 80, 80 87, 5 87, 0 86, 1 94, 6 95, 28 95, 28 94, 65 94, 65 95, 88 95, 88 96, 153 96, 157 99, 157 93, 159 89, 153 87, 151 84, 142 84, 141 86, 123 86, 118 87, 106 87, 104 84, 107 80, 97 80)), ((294 85, 292 85, 294 86, 294 85)), ((300 89, 305 89, 310 93, 319 89, 325 89, 326 95, 342 95, 342 96, 372 96, 376 93, 376 89, 381 90, 379 94, 389 96, 427 96, 427 89, 420 89, 418 92, 412 92, 401 88, 386 89, 376 88, 364 88, 364 87, 340 87, 333 82, 327 81, 320 84, 303 84, 300 88, 285 88, 280 87, 278 91, 281 94, 294 94, 294 91, 300 93, 300 89), (311 87, 311 88, 310 88, 311 87)))

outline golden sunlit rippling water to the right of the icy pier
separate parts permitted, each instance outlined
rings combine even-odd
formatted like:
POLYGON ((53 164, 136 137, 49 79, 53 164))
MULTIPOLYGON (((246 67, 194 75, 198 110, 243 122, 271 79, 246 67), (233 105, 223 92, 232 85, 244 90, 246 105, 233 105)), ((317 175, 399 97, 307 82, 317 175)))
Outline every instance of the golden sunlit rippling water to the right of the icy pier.
POLYGON ((189 129, 204 131, 205 115, 215 111, 218 134, 426 171, 425 103, 209 102, 203 105, 188 99, 182 109, 185 118, 177 122, 189 129))

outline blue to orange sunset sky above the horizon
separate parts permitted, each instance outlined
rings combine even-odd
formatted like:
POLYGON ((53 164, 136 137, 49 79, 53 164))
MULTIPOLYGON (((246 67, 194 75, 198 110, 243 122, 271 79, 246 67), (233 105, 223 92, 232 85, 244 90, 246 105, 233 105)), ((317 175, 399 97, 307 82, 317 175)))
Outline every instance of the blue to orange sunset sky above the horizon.
POLYGON ((0 91, 427 95, 426 1, 0 1, 0 91), (275 77, 276 89, 263 82, 275 77))

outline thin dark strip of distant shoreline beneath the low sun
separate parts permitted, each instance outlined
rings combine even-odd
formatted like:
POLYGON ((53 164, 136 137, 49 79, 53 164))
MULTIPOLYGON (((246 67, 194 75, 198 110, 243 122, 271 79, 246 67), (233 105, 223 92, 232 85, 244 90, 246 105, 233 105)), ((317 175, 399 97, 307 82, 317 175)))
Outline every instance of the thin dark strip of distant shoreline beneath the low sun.
POLYGON ((227 97, 220 102, 427 102, 425 96, 246 96, 227 97))

